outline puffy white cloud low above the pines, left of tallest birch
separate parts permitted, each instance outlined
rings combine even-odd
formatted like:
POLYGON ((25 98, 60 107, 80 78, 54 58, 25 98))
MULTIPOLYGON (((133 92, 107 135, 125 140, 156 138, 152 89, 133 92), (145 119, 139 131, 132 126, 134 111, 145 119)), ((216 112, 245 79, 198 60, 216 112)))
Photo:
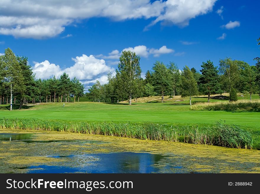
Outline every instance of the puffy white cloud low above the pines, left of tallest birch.
POLYGON ((97 80, 101 84, 105 84, 108 71, 115 72, 115 69, 107 66, 103 59, 97 59, 93 55, 87 56, 83 54, 82 56, 72 58, 72 60, 75 62, 74 65, 66 69, 61 69, 59 65, 50 63, 48 60, 41 63, 34 62, 35 65, 32 67, 33 73, 36 74, 36 79, 48 79, 53 76, 58 78, 65 72, 69 74, 71 79, 77 77, 87 89, 97 80))

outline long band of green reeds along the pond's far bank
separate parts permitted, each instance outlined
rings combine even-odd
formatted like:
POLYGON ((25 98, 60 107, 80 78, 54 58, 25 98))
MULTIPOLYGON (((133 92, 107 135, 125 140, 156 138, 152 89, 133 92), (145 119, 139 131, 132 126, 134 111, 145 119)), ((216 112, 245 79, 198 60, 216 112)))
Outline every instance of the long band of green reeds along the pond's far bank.
POLYGON ((142 140, 184 142, 239 149, 254 149, 251 133, 237 125, 220 122, 212 126, 175 126, 159 123, 88 123, 46 121, 40 119, 0 119, 0 128, 63 131, 137 138, 142 140))

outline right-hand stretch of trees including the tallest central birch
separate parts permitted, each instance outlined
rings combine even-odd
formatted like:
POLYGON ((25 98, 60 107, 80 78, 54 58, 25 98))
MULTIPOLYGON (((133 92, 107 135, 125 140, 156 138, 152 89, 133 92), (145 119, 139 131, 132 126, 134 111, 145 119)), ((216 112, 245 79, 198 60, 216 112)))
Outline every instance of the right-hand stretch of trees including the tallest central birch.
MULTIPOLYGON (((260 38, 257 40, 260 45, 260 38)), ((237 93, 259 94, 260 97, 260 58, 256 57, 256 65, 250 66, 245 61, 224 58, 219 60, 219 65, 214 66, 208 60, 202 62, 201 70, 185 66, 179 70, 174 62, 164 64, 156 61, 151 70, 141 78, 140 57, 131 51, 123 51, 119 58, 116 74, 108 73, 108 83, 100 84, 97 81, 86 93, 92 101, 116 103, 132 99, 160 95, 162 102, 164 97, 181 95, 191 97, 204 94, 210 95, 230 94, 230 101, 237 100, 237 93)))

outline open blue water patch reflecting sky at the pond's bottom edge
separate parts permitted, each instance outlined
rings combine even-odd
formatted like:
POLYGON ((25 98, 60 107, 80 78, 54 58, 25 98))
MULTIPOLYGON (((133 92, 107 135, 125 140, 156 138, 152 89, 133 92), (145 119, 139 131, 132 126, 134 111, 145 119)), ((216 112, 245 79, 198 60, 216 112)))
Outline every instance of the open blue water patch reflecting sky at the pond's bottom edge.
POLYGON ((158 162, 168 156, 150 153, 120 152, 50 157, 68 157, 77 166, 31 166, 28 167, 29 173, 156 173, 170 168, 181 168, 160 166, 158 162))

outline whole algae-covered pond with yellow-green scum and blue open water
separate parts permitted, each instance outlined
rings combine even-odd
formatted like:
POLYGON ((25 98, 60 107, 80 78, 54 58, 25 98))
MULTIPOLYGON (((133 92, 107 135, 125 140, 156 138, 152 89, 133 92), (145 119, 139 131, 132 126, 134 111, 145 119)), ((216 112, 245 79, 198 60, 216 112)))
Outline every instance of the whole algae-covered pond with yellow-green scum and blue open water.
POLYGON ((1 173, 259 173, 260 151, 0 129, 1 173))

